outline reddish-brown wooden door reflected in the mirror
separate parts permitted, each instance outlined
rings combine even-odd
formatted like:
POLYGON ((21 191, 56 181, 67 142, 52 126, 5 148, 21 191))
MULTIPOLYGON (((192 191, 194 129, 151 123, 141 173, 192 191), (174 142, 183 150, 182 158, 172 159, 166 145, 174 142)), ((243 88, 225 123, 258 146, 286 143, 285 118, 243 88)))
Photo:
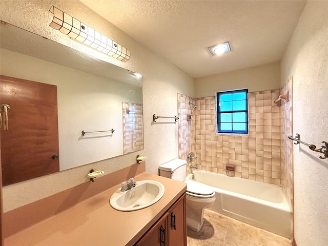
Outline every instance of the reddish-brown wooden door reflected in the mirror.
POLYGON ((57 87, 0 76, 0 104, 8 104, 1 129, 3 185, 59 171, 57 87))

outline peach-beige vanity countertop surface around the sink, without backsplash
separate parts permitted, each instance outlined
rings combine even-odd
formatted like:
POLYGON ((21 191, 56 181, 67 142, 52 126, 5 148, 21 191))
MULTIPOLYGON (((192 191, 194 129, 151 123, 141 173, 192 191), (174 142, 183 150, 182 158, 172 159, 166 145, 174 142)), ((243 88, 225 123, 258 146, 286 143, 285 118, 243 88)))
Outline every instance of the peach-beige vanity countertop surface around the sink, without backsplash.
POLYGON ((131 212, 113 209, 109 199, 120 188, 116 185, 6 237, 4 245, 133 245, 187 190, 186 183, 173 179, 149 173, 135 176, 136 181, 147 179, 165 186, 163 197, 148 208, 131 212))

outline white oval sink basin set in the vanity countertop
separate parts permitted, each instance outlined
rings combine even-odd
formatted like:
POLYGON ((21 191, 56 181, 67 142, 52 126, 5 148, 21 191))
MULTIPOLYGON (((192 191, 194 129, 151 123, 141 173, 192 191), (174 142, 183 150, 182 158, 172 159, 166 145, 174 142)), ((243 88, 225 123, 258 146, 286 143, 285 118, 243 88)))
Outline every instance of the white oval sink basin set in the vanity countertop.
POLYGON ((144 209, 157 202, 164 195, 164 186, 154 180, 141 180, 136 187, 128 191, 118 189, 111 196, 109 203, 119 211, 144 209))

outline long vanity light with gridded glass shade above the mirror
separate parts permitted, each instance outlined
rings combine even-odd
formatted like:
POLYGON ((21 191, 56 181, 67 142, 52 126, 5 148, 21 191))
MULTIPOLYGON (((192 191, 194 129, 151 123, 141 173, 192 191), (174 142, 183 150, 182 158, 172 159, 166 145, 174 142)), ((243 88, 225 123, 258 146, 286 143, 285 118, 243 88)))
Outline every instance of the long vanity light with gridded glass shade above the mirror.
POLYGON ((112 56, 123 63, 131 57, 130 50, 117 44, 114 40, 81 23, 78 19, 52 6, 49 10, 53 13, 50 27, 59 30, 79 43, 90 46, 102 53, 112 56))

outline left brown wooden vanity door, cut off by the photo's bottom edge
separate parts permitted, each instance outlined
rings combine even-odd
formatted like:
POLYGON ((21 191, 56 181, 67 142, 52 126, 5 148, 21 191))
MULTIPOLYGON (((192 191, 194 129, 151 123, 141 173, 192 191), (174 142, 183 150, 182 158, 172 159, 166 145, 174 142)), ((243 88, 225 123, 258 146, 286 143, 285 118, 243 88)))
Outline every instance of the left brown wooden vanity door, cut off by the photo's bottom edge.
POLYGON ((135 246, 168 246, 168 218, 164 214, 135 246))

